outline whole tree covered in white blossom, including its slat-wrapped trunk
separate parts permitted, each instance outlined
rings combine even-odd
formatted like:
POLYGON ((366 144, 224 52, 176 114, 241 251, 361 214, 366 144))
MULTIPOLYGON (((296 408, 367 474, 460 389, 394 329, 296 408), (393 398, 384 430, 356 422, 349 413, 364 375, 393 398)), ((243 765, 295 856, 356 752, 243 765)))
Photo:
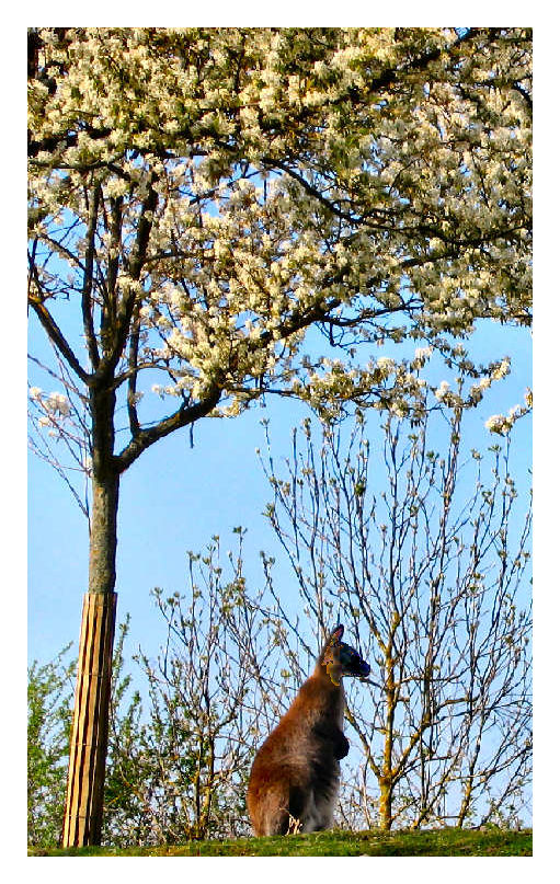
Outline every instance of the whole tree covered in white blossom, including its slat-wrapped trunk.
POLYGON ((434 351, 473 379, 432 391, 454 407, 507 371, 455 338, 530 321, 529 54, 525 28, 30 30, 28 303, 65 387, 31 399, 91 481, 65 843, 100 839, 123 472, 263 394, 404 414, 434 351))

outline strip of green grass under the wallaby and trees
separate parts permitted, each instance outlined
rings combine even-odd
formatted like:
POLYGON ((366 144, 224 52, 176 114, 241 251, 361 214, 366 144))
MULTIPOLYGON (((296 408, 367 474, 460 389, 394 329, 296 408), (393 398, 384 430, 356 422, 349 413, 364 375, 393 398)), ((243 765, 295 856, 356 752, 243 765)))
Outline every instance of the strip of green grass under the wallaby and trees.
POLYGON ((30 848, 30 857, 532 857, 533 830, 320 831, 170 847, 30 848))

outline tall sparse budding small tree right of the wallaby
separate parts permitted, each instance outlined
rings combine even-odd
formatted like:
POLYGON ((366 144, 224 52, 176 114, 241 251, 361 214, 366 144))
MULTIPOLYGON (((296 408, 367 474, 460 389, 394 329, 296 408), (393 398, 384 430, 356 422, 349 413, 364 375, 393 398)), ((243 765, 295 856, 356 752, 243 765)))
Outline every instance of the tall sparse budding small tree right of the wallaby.
POLYGON ((372 664, 369 696, 350 688, 366 760, 345 794, 386 829, 515 822, 530 780, 530 509, 510 436, 465 457, 461 421, 442 454, 427 415, 390 417, 372 446, 358 413, 347 438, 295 430, 284 472, 263 459, 305 612, 316 632, 344 622, 372 664))

